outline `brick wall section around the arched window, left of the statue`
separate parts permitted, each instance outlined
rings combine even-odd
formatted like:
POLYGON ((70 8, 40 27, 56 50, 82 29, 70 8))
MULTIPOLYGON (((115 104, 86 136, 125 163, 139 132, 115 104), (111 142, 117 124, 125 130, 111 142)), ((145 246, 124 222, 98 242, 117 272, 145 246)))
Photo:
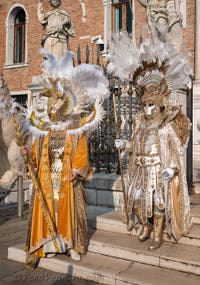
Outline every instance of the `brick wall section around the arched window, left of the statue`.
POLYGON ((32 75, 36 75, 40 71, 41 56, 39 54, 40 48, 40 38, 42 36, 42 30, 40 24, 37 20, 36 14, 36 1, 21 0, 17 1, 0 1, 4 2, 1 8, 1 39, 2 39, 2 49, 0 57, 0 71, 3 72, 4 78, 10 88, 13 90, 26 90, 27 84, 32 81, 32 75), (10 11, 10 8, 16 4, 20 3, 26 7, 29 22, 27 24, 28 28, 28 66, 22 68, 14 69, 3 69, 5 64, 5 48, 6 48, 6 30, 5 21, 6 17, 10 11))

